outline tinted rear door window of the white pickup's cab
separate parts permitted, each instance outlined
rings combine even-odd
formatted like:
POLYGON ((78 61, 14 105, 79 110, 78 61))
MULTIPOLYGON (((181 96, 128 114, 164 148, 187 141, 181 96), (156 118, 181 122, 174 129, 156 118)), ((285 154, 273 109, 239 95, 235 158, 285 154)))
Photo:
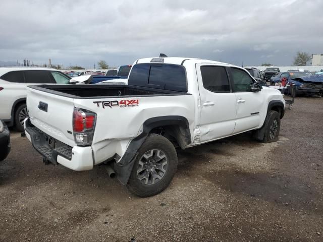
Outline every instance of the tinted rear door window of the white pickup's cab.
POLYGON ((217 66, 201 67, 203 87, 211 92, 230 92, 226 69, 217 66))

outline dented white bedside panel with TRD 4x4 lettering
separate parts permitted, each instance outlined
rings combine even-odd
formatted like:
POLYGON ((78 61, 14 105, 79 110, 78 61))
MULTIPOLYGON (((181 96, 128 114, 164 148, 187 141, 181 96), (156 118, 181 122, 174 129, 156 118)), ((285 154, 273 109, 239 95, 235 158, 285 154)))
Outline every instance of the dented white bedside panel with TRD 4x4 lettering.
MULTIPOLYGON (((194 98, 192 95, 115 97, 74 99, 74 106, 97 114, 92 149, 95 164, 116 153, 123 156, 130 141, 141 134, 142 125, 151 117, 179 115, 194 128, 194 98), (102 107, 97 101, 138 100, 132 106, 102 107)), ((191 134, 192 135, 192 134, 191 134)))

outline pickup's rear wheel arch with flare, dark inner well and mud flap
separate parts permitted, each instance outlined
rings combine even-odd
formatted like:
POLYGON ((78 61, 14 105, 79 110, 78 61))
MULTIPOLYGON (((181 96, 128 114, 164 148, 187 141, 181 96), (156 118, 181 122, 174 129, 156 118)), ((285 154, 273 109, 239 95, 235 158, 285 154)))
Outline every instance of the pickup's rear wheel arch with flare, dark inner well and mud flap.
POLYGON ((164 129, 167 134, 172 135, 182 149, 185 149, 191 141, 187 118, 172 115, 147 119, 142 125, 142 133, 130 142, 120 161, 114 163, 114 170, 123 185, 128 183, 138 149, 150 133, 157 133, 156 131, 159 129, 164 129))

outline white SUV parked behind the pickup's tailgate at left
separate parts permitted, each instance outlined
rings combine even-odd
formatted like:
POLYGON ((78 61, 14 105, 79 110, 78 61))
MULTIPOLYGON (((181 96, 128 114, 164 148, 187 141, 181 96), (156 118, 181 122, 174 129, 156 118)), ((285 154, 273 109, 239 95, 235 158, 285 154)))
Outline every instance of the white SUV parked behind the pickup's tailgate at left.
POLYGON ((0 119, 23 132, 27 117, 27 86, 35 84, 70 84, 71 78, 52 68, 0 68, 0 119))

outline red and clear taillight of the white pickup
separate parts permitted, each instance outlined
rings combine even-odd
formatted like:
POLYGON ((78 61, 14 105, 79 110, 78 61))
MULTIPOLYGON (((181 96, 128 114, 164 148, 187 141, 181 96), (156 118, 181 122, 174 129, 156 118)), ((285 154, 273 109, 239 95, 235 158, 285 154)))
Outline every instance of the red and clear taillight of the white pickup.
POLYGON ((95 122, 96 113, 80 108, 74 108, 73 133, 76 144, 92 144, 95 122))

